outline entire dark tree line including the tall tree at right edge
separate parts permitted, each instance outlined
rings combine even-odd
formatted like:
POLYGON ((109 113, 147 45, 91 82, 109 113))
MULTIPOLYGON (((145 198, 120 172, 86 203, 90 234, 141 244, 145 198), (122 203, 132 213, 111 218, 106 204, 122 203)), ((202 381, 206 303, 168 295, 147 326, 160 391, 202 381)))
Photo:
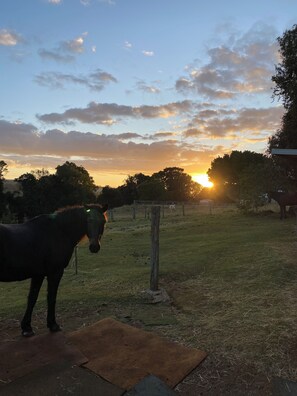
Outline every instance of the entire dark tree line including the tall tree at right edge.
POLYGON ((267 153, 232 151, 214 159, 208 169, 214 188, 202 188, 182 168, 170 167, 151 176, 127 176, 123 185, 105 186, 98 194, 93 178, 82 166, 65 162, 55 174, 46 170, 25 173, 15 179, 21 194, 4 192, 7 164, 0 160, 0 218, 9 211, 22 221, 59 207, 87 202, 108 202, 110 207, 129 205, 134 200, 196 201, 209 198, 244 202, 257 208, 265 193, 283 189, 296 191, 297 161, 272 157, 273 148, 297 148, 297 25, 278 37, 280 63, 272 81, 274 99, 281 100, 281 126, 268 140, 267 153))

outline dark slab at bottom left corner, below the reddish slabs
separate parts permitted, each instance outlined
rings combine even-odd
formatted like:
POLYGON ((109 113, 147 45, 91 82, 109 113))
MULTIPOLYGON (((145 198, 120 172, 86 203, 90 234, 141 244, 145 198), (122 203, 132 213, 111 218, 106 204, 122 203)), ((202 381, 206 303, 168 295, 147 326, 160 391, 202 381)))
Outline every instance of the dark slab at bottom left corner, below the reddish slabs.
POLYGON ((40 367, 0 388, 1 396, 122 396, 123 393, 123 389, 69 362, 40 367))

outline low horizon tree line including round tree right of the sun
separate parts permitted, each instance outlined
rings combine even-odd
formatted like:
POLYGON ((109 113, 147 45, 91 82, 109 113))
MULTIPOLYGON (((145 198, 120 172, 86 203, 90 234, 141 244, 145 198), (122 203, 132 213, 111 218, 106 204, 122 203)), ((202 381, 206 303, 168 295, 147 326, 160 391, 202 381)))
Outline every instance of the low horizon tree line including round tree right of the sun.
POLYGON ((119 187, 98 189, 88 171, 65 162, 54 174, 41 169, 15 179, 20 191, 4 192, 7 164, 0 161, 0 218, 10 213, 18 222, 58 208, 90 202, 108 203, 110 208, 130 205, 134 200, 196 202, 244 201, 248 209, 260 206, 263 194, 287 188, 282 168, 263 155, 251 151, 232 151, 212 161, 208 170, 213 188, 203 188, 179 167, 168 167, 151 176, 128 175, 119 187))

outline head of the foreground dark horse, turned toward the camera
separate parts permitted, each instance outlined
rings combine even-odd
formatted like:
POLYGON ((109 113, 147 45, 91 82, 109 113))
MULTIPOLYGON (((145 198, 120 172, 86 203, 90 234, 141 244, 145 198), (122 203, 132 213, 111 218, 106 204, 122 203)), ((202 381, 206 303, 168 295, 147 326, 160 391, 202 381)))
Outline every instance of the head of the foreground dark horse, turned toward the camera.
POLYGON ((100 239, 104 232, 106 223, 106 211, 108 205, 86 205, 87 214, 87 237, 89 238, 89 249, 91 253, 98 253, 100 250, 100 239))

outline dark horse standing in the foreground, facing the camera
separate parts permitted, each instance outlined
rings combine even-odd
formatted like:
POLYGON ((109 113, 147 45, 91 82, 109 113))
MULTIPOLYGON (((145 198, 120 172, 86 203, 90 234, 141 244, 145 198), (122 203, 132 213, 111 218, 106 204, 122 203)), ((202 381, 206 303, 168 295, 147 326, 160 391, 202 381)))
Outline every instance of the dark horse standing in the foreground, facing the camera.
POLYGON ((56 296, 64 268, 77 243, 87 235, 91 253, 100 249, 107 205, 76 206, 40 215, 24 224, 0 225, 0 281, 31 278, 25 315, 21 322, 25 337, 34 334, 33 308, 44 278, 47 278, 47 327, 61 330, 56 322, 56 296))

